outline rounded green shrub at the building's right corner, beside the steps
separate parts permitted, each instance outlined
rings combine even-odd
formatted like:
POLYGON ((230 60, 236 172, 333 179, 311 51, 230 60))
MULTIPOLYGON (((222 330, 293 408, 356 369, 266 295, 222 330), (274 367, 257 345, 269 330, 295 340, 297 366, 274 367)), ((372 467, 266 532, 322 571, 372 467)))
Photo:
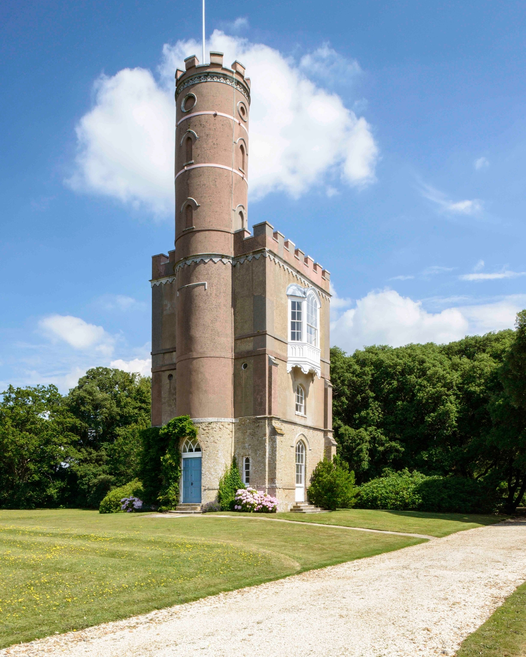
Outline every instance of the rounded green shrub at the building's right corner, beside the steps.
POLYGON ((354 506, 358 487, 354 485, 354 472, 349 472, 345 461, 335 457, 333 461, 325 458, 312 473, 311 484, 307 489, 308 499, 322 509, 350 509, 354 506))

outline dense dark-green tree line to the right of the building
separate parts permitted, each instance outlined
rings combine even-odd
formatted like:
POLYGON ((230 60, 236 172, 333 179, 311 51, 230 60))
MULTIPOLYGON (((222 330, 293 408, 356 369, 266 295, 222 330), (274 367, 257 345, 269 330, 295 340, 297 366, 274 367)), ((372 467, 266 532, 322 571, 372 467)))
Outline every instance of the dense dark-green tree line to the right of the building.
POLYGON ((508 511, 521 503, 526 310, 515 330, 444 345, 335 347, 331 382, 337 451, 358 484, 418 472, 479 482, 508 511))

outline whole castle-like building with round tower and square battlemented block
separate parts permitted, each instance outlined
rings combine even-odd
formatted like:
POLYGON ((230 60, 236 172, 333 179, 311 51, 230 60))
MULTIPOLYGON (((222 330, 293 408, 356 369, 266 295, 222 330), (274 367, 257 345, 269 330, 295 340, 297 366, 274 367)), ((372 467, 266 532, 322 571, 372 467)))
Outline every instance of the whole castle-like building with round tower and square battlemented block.
POLYGON ((224 67, 222 53, 185 67, 175 250, 153 257, 152 424, 189 415, 199 426, 199 445, 181 445, 183 502, 212 501, 236 455, 247 484, 288 508, 334 451, 329 272, 269 223, 248 230, 245 68, 224 67))

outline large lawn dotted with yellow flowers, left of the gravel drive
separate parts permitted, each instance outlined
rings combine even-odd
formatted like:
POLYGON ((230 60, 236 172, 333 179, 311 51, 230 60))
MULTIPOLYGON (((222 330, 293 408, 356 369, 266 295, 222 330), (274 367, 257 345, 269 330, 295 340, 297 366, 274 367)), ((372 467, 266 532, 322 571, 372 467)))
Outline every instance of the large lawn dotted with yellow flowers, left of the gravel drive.
POLYGON ((3 510, 0 648, 421 542, 243 518, 3 510))

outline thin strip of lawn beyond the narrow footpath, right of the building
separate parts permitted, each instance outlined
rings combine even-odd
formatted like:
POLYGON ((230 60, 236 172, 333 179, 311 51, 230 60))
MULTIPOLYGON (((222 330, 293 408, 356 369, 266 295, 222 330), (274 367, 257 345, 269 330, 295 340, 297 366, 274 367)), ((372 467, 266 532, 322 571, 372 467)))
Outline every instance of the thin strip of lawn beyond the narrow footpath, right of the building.
MULTIPOLYGON (((217 515, 225 512, 217 512, 217 515)), ((233 511, 229 515, 237 515, 233 511)), ((254 516, 253 513, 243 513, 254 516)), ((276 513, 272 518, 299 520, 300 522, 319 522, 324 525, 344 525, 346 527, 365 527, 370 530, 388 532, 419 533, 427 536, 448 536, 450 533, 471 530, 475 527, 502 522, 510 516, 483 516, 462 513, 423 513, 420 511, 377 511, 370 509, 341 509, 328 513, 276 513)))

